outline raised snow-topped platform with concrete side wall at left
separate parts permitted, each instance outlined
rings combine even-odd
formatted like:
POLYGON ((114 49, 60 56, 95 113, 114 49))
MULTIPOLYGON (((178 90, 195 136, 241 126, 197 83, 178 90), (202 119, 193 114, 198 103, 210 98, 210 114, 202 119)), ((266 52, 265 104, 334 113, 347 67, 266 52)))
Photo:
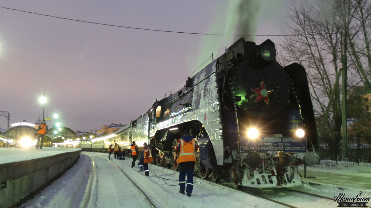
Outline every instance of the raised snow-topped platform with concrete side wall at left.
POLYGON ((10 207, 60 174, 82 149, 0 148, 0 207, 10 207))

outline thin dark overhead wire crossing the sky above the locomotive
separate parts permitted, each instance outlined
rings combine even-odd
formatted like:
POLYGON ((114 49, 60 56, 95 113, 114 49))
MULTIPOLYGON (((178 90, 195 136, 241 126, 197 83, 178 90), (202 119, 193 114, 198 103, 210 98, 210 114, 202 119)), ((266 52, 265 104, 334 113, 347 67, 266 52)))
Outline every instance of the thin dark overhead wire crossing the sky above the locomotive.
MULTIPOLYGON (((112 27, 122 27, 122 28, 136 29, 136 30, 149 30, 149 31, 158 31, 158 32, 166 32, 166 33, 184 33, 184 34, 198 34, 198 35, 224 36, 224 34, 213 34, 213 33, 191 33, 191 32, 181 32, 181 31, 171 31, 171 30, 155 30, 155 29, 140 28, 140 27, 119 26, 119 25, 114 25, 114 24, 105 24, 105 23, 97 23, 97 22, 84 21, 84 20, 76 20, 76 19, 71 19, 71 18, 66 18, 66 17, 57 17, 57 16, 53 16, 53 15, 40 14, 40 13, 36 13, 36 12, 32 12, 32 11, 24 11, 24 10, 12 9, 12 8, 2 7, 2 6, 0 6, 0 8, 3 8, 3 9, 9 9, 9 10, 14 10, 14 11, 21 11, 21 12, 30 13, 30 14, 37 14, 37 15, 46 16, 46 17, 54 17, 54 18, 58 18, 58 19, 71 20, 71 21, 78 21, 78 22, 91 23, 91 24, 100 24, 100 25, 112 26, 112 27)), ((231 35, 231 36, 252 36, 252 35, 231 35)), ((295 34, 292 34, 292 35, 255 35, 255 36, 295 36, 295 34)))

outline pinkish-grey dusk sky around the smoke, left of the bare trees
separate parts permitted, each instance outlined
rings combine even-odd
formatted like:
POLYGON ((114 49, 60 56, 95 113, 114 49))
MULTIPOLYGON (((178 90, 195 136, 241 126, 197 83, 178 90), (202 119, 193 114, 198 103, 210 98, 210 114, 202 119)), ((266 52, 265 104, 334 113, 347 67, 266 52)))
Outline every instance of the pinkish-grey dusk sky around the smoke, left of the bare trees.
MULTIPOLYGON (((288 0, 276 5, 260 2, 256 33, 282 34, 288 0)), ((118 26, 194 33, 226 34, 229 19, 228 1, 224 0, 145 4, 0 0, 0 6, 118 26)), ((238 38, 134 30, 3 8, 0 28, 0 111, 10 112, 10 123, 35 123, 42 118, 38 99, 45 93, 45 117, 58 113, 62 125, 74 131, 128 124, 194 75, 191 73, 211 53, 219 57, 220 51, 238 38)), ((279 40, 256 37, 256 42, 267 38, 279 40)), ((7 128, 4 117, 0 128, 7 128)))

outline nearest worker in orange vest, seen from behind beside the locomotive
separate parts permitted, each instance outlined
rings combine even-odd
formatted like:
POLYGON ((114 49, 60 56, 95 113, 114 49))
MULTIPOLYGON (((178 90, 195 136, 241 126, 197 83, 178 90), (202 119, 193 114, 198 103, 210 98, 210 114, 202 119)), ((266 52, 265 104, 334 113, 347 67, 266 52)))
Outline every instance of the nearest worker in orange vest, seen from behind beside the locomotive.
POLYGON ((180 193, 187 192, 190 197, 193 191, 193 171, 196 165, 197 151, 196 140, 190 135, 190 131, 183 130, 183 137, 178 140, 179 145, 175 148, 178 153, 177 163, 179 164, 179 186, 180 193), (185 175, 187 175, 187 189, 185 189, 185 175))

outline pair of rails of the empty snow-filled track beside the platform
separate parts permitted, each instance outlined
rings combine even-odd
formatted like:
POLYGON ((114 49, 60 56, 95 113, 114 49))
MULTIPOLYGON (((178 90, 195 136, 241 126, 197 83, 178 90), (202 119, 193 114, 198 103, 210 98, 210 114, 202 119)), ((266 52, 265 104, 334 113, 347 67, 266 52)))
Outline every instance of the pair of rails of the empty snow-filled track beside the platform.
MULTIPOLYGON (((88 155, 88 154, 86 154, 86 155, 88 155)), ((91 196, 92 196, 92 189, 93 189, 93 187, 96 185, 96 181, 94 180, 94 178, 95 178, 95 174, 96 174, 96 164, 95 164, 95 162, 94 162, 94 159, 90 156, 90 155, 88 155, 89 156, 89 158, 92 160, 92 172, 91 172, 91 178, 90 178, 90 182, 89 182, 89 184, 88 184, 88 186, 89 186, 89 188, 88 188, 88 192, 87 192, 87 194, 86 194, 86 197, 85 197, 85 202, 84 202, 84 205, 83 205, 83 207, 84 208, 86 208, 86 207, 88 207, 88 205, 89 205, 89 203, 91 202, 91 196)), ((102 157, 102 156, 100 156, 100 155, 96 155, 96 157, 101 157, 101 158, 104 158, 105 160, 108 160, 107 158, 105 158, 105 157, 102 157)), ((128 179, 128 181, 130 181, 133 185, 134 185, 134 187, 138 190, 138 192, 140 192, 140 195, 142 195, 144 198, 145 198, 145 200, 148 202, 148 204, 151 206, 151 207, 153 207, 153 208, 156 208, 156 205, 154 204, 154 202, 145 194, 145 192, 144 191, 142 191, 142 189, 134 182, 134 181, 132 181, 131 180, 131 178, 129 178, 128 177, 128 175, 124 172, 124 171, 122 171, 121 170, 121 168, 119 168, 116 164, 114 164, 111 160, 108 160, 109 162, 110 162, 110 164, 112 164, 112 165, 114 165, 116 168, 118 168, 118 170, 120 170, 121 171, 121 173, 122 174, 124 174, 125 175, 125 177, 128 179)))

